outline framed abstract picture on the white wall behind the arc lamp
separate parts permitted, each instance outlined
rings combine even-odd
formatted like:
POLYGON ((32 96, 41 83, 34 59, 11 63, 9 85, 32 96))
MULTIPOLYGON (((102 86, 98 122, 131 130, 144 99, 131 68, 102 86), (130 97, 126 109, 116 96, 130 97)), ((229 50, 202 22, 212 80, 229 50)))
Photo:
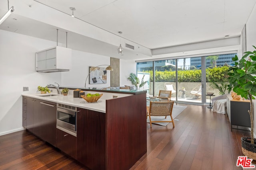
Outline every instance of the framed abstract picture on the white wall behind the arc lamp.
POLYGON ((89 84, 106 84, 107 71, 105 67, 89 66, 89 84))

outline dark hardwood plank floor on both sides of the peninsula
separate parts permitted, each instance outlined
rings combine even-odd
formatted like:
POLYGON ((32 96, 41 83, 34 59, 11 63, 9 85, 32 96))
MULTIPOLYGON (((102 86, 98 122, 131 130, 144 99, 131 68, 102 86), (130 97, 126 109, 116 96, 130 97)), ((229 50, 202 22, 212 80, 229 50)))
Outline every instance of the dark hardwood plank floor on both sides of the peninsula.
MULTIPOLYGON (((243 155, 240 138, 250 133, 231 132, 228 117, 207 106, 178 105, 188 107, 175 118, 175 128, 147 123, 147 153, 131 170, 241 170, 236 166, 243 155)), ((5 169, 86 170, 26 130, 0 136, 0 170, 5 169)))

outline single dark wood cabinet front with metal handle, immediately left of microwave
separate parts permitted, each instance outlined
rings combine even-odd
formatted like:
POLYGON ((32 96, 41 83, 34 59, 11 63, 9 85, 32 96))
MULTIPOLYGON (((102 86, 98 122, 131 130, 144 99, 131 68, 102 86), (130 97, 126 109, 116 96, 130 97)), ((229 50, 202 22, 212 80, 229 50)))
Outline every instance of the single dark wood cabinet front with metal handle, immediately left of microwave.
POLYGON ((42 131, 42 139, 54 147, 56 147, 56 103, 41 100, 42 124, 40 129, 42 131))

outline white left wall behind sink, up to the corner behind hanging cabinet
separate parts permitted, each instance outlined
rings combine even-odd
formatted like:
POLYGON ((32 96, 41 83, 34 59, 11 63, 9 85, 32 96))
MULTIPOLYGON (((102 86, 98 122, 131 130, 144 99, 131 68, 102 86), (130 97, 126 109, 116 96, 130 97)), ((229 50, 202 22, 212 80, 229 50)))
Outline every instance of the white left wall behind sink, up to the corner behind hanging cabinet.
POLYGON ((0 30, 0 135, 22 128, 22 93, 60 82, 61 74, 35 71, 35 53, 56 43, 0 30), (23 92, 23 86, 29 87, 23 92))

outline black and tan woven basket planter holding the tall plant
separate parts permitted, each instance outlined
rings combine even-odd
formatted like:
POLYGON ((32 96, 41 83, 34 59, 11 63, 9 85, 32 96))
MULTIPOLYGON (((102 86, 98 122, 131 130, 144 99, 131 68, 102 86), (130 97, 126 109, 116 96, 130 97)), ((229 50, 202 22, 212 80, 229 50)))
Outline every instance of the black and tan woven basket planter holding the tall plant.
POLYGON ((256 140, 254 139, 255 144, 251 144, 250 137, 241 137, 242 143, 242 152, 248 158, 256 160, 256 140))

